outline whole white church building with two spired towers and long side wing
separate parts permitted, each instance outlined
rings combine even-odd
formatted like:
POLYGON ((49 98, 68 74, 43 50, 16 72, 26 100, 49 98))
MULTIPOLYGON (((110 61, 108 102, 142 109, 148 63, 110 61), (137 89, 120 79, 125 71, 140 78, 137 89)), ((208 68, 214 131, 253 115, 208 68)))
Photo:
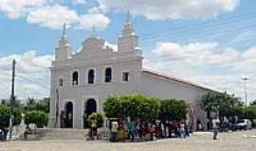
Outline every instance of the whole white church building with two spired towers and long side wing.
POLYGON ((118 50, 105 40, 91 36, 82 42, 82 50, 72 54, 65 27, 52 61, 49 126, 60 127, 60 114, 69 116, 65 127, 83 128, 84 113, 103 112, 108 96, 139 93, 159 98, 187 101, 193 126, 206 117, 197 100, 211 90, 192 82, 145 70, 133 25, 127 21, 118 38, 118 50))

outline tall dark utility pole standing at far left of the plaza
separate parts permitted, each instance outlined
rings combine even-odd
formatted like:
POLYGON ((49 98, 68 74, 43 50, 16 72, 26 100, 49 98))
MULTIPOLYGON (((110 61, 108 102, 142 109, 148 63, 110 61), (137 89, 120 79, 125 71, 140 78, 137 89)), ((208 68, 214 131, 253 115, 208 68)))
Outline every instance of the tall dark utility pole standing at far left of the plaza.
POLYGON ((15 101, 15 96, 14 96, 14 82, 15 82, 15 64, 16 61, 15 59, 12 60, 12 76, 11 76, 11 94, 10 94, 10 116, 9 116, 9 141, 11 141, 11 133, 12 133, 12 124, 13 124, 13 105, 15 101))

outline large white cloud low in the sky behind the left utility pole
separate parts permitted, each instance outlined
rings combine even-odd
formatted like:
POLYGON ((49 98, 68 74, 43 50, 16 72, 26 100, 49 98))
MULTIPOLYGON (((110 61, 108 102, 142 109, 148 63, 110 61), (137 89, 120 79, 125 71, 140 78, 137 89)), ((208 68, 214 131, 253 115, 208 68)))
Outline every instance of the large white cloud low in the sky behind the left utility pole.
POLYGON ((35 51, 0 56, 0 99, 9 98, 11 61, 16 59, 15 93, 18 98, 49 95, 49 70, 52 55, 39 56, 35 51))

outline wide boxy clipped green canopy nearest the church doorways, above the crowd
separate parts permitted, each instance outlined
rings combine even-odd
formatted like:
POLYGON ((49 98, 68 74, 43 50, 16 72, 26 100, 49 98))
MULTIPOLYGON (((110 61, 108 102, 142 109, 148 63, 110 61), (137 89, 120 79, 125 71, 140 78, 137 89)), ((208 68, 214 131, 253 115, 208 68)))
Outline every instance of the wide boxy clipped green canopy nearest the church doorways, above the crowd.
POLYGON ((159 113, 159 99, 140 94, 112 96, 103 104, 108 118, 152 120, 159 113))

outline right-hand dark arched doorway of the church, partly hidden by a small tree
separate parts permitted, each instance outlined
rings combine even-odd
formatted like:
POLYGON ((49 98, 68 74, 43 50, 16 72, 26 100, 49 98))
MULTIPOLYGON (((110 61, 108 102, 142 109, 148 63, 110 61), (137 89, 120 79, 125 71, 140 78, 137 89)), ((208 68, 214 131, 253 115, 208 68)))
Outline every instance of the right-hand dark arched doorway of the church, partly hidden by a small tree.
POLYGON ((97 112, 97 103, 93 98, 88 99, 84 103, 83 127, 88 127, 87 119, 93 112, 97 112))

